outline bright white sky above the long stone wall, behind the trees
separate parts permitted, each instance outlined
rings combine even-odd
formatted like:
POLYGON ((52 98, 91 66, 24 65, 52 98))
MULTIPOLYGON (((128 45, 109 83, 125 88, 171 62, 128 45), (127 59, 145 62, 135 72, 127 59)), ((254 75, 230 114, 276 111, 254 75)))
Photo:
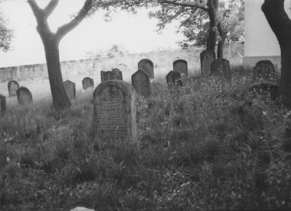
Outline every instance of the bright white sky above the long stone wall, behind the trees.
MULTIPOLYGON (((45 7, 47 0, 36 1, 45 7)), ((84 0, 60 0, 48 18, 53 32, 70 20, 71 14, 80 10, 84 0)), ((0 52, 0 67, 44 63, 43 45, 36 31, 36 20, 26 0, 7 0, 0 4, 0 11, 14 30, 11 50, 0 52)), ((176 33, 178 22, 168 25, 163 33, 156 32, 156 19, 150 19, 146 9, 137 14, 121 11, 112 21, 104 20, 103 12, 84 19, 60 42, 60 60, 82 59, 88 51, 106 51, 113 44, 122 44, 129 53, 149 52, 159 49, 176 49, 182 34, 176 33)))

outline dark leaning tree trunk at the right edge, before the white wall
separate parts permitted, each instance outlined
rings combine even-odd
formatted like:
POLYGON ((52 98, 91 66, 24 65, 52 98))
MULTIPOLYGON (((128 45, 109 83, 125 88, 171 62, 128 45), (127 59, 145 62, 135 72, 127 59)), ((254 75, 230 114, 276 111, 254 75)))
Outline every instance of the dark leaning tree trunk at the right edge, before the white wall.
POLYGON ((275 33, 281 49, 279 92, 286 106, 291 106, 291 20, 284 10, 284 0, 265 0, 262 11, 275 33))

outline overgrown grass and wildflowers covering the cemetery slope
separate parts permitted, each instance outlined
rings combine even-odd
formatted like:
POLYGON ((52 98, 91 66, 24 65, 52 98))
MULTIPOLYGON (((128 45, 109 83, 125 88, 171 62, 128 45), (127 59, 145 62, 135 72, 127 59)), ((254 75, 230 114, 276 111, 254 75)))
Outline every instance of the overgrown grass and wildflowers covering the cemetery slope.
POLYGON ((249 95, 252 75, 196 77, 139 99, 139 146, 94 143, 92 92, 70 109, 8 99, 0 119, 0 209, 290 208, 291 120, 249 95), (145 106, 146 105, 146 106, 145 106))

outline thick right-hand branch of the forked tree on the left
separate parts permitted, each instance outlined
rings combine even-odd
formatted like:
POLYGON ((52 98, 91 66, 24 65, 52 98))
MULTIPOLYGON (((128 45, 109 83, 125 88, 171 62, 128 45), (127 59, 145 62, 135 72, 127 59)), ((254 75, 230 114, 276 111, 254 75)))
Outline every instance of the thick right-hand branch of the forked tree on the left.
POLYGON ((64 24, 63 26, 58 28, 56 32, 56 37, 61 40, 68 32, 77 27, 80 22, 86 17, 89 10, 91 9, 91 6, 92 0, 86 0, 83 8, 79 11, 78 15, 67 24, 64 24))

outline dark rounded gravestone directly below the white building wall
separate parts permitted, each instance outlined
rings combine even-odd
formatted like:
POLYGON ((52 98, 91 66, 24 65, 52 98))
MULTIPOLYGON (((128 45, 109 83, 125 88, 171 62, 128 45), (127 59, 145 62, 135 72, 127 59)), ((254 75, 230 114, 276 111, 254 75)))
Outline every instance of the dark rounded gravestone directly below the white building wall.
POLYGON ((260 60, 254 67, 254 80, 268 80, 275 75, 275 65, 270 60, 260 60))

